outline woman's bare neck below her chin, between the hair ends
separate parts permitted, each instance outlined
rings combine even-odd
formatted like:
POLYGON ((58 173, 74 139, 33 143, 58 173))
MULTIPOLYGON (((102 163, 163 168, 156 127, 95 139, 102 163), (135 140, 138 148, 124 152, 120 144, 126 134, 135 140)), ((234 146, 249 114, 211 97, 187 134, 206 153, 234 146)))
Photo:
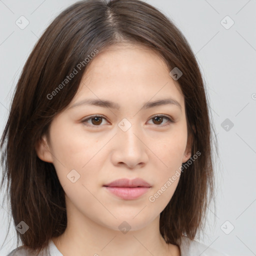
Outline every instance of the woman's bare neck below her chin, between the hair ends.
POLYGON ((52 238, 63 256, 180 255, 176 245, 166 244, 162 238, 159 232, 159 215, 145 227, 123 233, 96 223, 81 213, 73 213, 68 214, 67 209, 64 233, 52 238))

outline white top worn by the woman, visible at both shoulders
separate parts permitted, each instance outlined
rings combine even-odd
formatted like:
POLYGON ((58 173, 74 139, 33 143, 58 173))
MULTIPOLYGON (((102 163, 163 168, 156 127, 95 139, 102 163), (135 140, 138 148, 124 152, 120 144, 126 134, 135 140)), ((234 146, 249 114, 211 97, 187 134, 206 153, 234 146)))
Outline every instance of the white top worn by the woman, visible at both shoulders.
MULTIPOLYGON (((180 254, 181 256, 228 256, 225 253, 220 253, 205 244, 197 242, 195 240, 190 240, 187 237, 181 238, 180 244, 180 254)), ((63 256, 63 254, 57 249, 54 242, 50 239, 46 250, 40 256, 63 256)), ((7 256, 33 256, 28 252, 27 249, 22 248, 22 246, 17 247, 12 250, 7 256)))

